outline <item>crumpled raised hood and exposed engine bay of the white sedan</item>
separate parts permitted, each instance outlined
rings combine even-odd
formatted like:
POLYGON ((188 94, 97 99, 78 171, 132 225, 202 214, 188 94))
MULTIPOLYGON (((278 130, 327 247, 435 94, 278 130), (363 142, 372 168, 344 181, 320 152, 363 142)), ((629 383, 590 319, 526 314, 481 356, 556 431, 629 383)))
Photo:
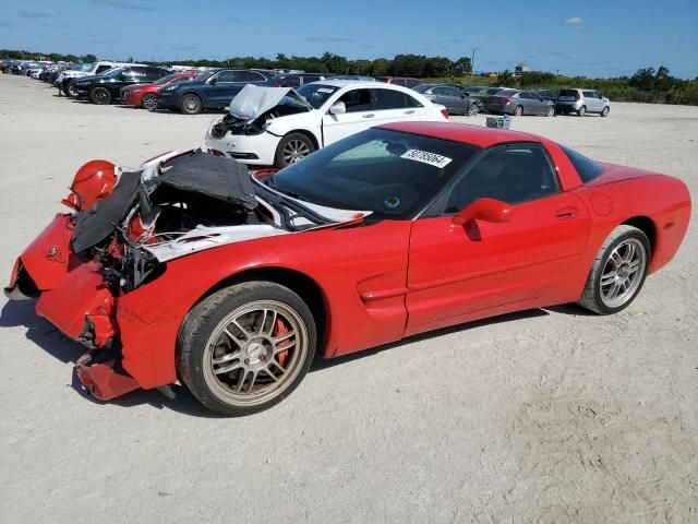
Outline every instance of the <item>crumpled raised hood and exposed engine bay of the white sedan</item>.
POLYGON ((210 128, 221 139, 232 134, 261 134, 276 118, 308 112, 313 108, 294 90, 245 85, 232 99, 230 111, 210 128))

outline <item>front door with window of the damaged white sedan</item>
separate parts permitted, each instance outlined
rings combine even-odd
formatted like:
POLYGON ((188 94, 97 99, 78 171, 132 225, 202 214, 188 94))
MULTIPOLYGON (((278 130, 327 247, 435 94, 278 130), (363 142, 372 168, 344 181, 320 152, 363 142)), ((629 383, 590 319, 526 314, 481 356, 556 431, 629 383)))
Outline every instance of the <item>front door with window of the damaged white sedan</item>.
POLYGON ((338 96, 335 95, 325 106, 323 114, 323 143, 324 145, 337 142, 346 136, 369 129, 376 121, 376 106, 373 98, 373 90, 366 87, 349 88, 338 96), (338 103, 344 103, 346 112, 333 115, 329 108, 338 103))

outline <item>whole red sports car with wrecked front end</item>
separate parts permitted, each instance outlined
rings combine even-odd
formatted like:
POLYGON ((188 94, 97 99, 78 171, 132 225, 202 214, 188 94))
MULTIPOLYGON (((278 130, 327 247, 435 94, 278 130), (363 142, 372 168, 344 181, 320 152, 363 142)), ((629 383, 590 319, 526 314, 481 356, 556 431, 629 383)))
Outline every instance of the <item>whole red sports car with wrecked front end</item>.
POLYGON ((686 186, 550 140, 409 122, 250 176, 207 152, 93 160, 5 293, 89 347, 109 400, 180 380, 226 415, 336 357, 515 310, 621 311, 676 253, 686 186))

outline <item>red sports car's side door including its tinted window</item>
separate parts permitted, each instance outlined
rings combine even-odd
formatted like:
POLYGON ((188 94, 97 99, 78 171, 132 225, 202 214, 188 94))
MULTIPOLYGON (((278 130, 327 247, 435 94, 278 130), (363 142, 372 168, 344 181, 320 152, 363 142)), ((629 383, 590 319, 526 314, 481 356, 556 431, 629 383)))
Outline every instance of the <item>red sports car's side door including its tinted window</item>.
POLYGON ((501 308, 555 303, 580 271, 589 215, 578 196, 559 190, 543 145, 507 144, 472 162, 412 225, 407 335, 501 308), (482 198, 508 202, 512 221, 453 224, 456 212, 482 198))

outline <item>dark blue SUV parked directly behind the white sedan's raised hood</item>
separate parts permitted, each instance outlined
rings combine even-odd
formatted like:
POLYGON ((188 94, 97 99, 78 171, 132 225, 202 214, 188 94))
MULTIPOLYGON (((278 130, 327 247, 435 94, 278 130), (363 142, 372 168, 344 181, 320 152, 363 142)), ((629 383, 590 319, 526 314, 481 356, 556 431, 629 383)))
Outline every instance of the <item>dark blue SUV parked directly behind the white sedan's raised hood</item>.
POLYGON ((166 85, 157 92, 157 108, 196 115, 204 109, 222 109, 248 84, 272 85, 269 71, 261 69, 212 69, 191 82, 166 85))

